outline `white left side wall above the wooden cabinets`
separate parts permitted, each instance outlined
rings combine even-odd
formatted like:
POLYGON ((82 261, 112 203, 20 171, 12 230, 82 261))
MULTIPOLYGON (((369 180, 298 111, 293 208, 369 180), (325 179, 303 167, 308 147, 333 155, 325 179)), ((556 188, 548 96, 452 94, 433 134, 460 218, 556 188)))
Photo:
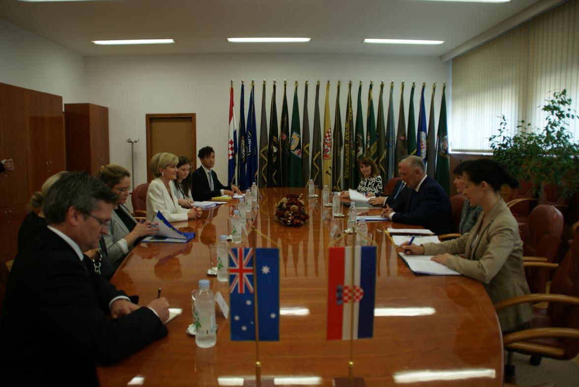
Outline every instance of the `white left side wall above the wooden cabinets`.
POLYGON ((83 103, 85 58, 0 18, 0 82, 83 103))

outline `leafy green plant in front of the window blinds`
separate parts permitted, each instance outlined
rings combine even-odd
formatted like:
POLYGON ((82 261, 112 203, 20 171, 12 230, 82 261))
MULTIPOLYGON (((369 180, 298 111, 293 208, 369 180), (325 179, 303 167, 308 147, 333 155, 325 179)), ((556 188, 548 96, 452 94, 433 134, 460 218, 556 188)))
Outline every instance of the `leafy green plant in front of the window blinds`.
POLYGON ((539 199, 547 184, 559 186, 563 197, 579 190, 579 143, 569 131, 569 120, 577 113, 570 108, 567 90, 554 92, 542 108, 547 113, 544 128, 533 130, 530 123, 519 121, 517 133, 511 136, 503 115, 499 133, 490 136, 492 158, 503 164, 519 181, 535 183, 539 199))

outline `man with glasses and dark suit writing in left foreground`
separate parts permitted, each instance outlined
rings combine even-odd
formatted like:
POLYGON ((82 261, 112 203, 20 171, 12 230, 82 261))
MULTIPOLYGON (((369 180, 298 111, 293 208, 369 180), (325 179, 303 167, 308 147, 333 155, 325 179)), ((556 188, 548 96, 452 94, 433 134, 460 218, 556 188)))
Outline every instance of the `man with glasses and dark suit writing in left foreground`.
POLYGON ((19 251, 0 316, 3 386, 98 386, 95 364, 116 362, 167 334, 164 298, 132 304, 82 251, 107 233, 116 196, 69 172, 44 199, 48 225, 19 251))

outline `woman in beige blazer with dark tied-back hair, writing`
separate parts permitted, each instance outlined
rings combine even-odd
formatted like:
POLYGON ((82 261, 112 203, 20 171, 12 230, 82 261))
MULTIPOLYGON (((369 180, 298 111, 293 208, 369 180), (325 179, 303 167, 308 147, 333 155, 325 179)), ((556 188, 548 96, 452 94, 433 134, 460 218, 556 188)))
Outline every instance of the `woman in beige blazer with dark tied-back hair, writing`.
MULTIPOLYGON (((481 206, 476 224, 458 239, 423 246, 402 243, 408 254, 434 255, 439 264, 483 283, 493 304, 529 294, 523 269, 523 243, 519 226, 500 195, 500 188, 518 182, 503 166, 490 159, 473 160, 464 166, 464 193, 472 205, 481 206), (459 254, 464 254, 464 258, 459 254)), ((531 304, 518 304, 497 312, 501 329, 518 330, 533 318, 531 304)))

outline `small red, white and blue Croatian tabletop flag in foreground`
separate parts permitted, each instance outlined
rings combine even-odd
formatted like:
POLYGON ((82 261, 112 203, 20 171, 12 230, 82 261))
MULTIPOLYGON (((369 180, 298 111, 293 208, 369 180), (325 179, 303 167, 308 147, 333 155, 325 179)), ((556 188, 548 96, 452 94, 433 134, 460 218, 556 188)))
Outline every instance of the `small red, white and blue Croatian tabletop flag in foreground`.
POLYGON ((356 247, 351 283, 352 247, 331 247, 328 269, 328 340, 370 338, 374 329, 376 246, 356 247), (351 311, 354 308, 354 319, 351 311))

